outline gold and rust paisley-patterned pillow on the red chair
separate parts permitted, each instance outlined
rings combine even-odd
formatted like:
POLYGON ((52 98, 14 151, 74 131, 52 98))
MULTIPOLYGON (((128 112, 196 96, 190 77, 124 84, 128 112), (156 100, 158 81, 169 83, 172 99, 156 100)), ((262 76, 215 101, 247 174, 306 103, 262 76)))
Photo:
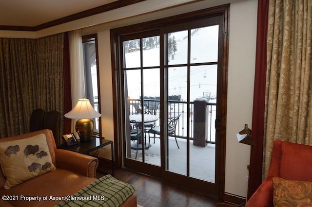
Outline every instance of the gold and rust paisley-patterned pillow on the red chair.
POLYGON ((311 207, 312 182, 273 177, 274 207, 311 207))

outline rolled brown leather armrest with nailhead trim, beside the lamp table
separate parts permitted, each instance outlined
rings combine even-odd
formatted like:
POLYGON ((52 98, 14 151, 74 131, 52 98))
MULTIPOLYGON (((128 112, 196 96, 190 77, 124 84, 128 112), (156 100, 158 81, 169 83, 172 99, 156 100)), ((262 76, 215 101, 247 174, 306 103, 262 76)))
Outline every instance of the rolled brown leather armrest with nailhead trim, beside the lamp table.
POLYGON ((86 177, 96 177, 98 158, 80 153, 56 149, 57 168, 80 173, 86 177))

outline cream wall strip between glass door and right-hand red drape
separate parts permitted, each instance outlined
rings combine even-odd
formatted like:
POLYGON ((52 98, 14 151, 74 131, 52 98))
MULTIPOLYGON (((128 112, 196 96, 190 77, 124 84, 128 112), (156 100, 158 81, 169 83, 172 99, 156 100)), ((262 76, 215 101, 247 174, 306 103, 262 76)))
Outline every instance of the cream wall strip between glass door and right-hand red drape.
POLYGON ((250 146, 237 142, 247 123, 252 129, 257 0, 231 4, 226 133, 225 192, 246 197, 250 146))

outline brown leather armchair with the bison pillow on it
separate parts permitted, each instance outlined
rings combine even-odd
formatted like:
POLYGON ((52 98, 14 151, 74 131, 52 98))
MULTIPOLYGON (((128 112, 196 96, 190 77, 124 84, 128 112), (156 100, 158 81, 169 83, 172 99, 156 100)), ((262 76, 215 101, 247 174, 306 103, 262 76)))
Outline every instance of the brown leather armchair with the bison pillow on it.
MULTIPOLYGON (((11 147, 11 151, 6 151, 7 155, 2 155, 1 157, 2 171, 0 170, 0 196, 66 196, 76 193, 78 190, 81 190, 86 185, 97 180, 95 176, 96 169, 98 167, 98 159, 89 155, 82 155, 71 151, 57 149, 51 130, 43 129, 40 131, 26 133, 14 137, 1 138, 0 149, 3 150, 3 146, 7 145, 8 143, 9 145, 18 145, 20 147, 15 147, 14 149, 16 151, 14 151, 13 154, 12 150, 14 149, 11 147), (39 141, 37 145, 38 147, 36 148, 35 145, 34 148, 28 148, 28 146, 33 145, 34 141, 39 141), (26 148, 21 147, 27 144, 28 146, 26 148), (27 149, 32 149, 33 151, 29 151, 27 149), (39 152, 41 149, 46 149, 44 150, 46 154, 44 154, 44 156, 42 157, 39 156, 39 153, 36 152, 39 152), (6 164, 8 163, 8 161, 10 161, 6 159, 6 157, 9 157, 10 159, 14 158, 12 164, 6 164), (28 168, 24 168, 23 164, 16 163, 19 159, 21 160, 20 163, 26 163, 26 166, 28 165, 28 163, 34 162, 40 167, 33 169, 28 166, 28 168), (52 164, 55 166, 56 169, 47 171, 49 169, 49 166, 51 166, 52 164, 50 163, 48 167, 44 168, 47 163, 45 163, 44 165, 41 165, 40 163, 44 163, 45 161, 42 162, 41 160, 45 159, 51 159, 52 164), (3 160, 8 161, 3 162, 3 160), (42 172, 41 169, 44 173, 39 173, 42 172), (29 177, 25 178, 25 175, 29 173, 36 174, 30 179, 29 177), (14 179, 15 185, 10 185, 10 188, 6 188, 8 178, 11 178, 11 180, 14 179)), ((23 200, 14 201, 13 199, 7 201, 0 200, 1 207, 43 207, 55 206, 58 203, 59 201, 56 200, 42 199, 40 201, 33 200, 29 202, 25 202, 23 200)))

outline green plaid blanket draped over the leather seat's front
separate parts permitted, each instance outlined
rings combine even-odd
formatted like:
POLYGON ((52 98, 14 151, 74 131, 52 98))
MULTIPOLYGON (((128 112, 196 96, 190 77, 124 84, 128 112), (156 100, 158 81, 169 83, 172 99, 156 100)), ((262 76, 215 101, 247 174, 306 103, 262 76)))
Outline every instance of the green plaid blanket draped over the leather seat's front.
POLYGON ((119 207, 135 191, 132 185, 121 182, 108 174, 74 195, 66 196, 65 200, 55 207, 119 207))

